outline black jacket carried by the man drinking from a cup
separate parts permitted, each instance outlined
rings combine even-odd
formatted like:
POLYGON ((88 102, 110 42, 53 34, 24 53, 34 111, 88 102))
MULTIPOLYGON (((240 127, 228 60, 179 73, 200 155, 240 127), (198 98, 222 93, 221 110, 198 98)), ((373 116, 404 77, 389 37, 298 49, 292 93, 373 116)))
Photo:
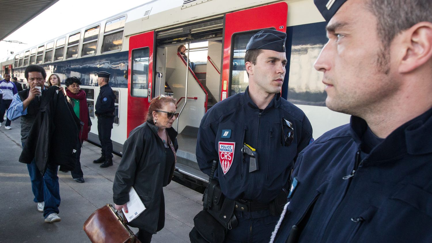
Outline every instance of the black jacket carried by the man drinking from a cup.
POLYGON ((41 96, 40 109, 19 157, 19 162, 27 164, 35 158, 42 174, 48 163, 72 170, 79 146, 80 121, 63 92, 56 92, 58 88, 51 86, 41 96))

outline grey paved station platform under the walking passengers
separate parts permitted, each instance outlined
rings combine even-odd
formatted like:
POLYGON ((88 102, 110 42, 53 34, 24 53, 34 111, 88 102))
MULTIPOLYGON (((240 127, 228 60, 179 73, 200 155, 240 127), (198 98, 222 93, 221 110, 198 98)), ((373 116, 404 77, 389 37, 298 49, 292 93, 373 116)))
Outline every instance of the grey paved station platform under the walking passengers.
MULTIPOLYGON (((58 172, 61 222, 48 224, 33 202, 27 166, 18 162, 22 150, 19 119, 11 127, 6 130, 4 122, 0 127, 0 243, 90 242, 83 224, 96 209, 113 204, 112 184, 121 157, 114 155, 114 166, 100 168, 92 163, 100 156, 100 148, 85 142, 80 161, 86 182, 75 182, 70 173, 58 172)), ((164 194, 165 227, 153 235, 152 242, 190 242, 194 216, 202 210, 202 194, 174 181, 164 194)))

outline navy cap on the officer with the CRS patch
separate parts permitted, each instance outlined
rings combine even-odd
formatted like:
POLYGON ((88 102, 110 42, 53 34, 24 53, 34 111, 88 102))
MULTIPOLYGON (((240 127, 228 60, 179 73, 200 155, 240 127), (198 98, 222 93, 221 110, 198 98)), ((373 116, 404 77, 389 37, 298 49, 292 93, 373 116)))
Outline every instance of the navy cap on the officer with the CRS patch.
POLYGON ((273 29, 263 29, 251 37, 246 45, 246 51, 264 49, 285 52, 286 33, 273 29))

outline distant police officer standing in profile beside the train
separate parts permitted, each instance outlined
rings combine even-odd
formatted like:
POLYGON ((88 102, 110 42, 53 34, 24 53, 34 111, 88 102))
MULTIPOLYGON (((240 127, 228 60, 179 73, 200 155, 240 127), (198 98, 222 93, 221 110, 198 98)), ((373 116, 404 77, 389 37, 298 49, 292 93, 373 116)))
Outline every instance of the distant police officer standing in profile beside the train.
POLYGON ((96 100, 95 115, 98 117, 98 134, 101 142, 102 155, 93 163, 102 163, 101 168, 112 166, 112 141, 111 129, 114 123, 115 95, 109 86, 108 72, 98 72, 98 85, 101 87, 96 100))

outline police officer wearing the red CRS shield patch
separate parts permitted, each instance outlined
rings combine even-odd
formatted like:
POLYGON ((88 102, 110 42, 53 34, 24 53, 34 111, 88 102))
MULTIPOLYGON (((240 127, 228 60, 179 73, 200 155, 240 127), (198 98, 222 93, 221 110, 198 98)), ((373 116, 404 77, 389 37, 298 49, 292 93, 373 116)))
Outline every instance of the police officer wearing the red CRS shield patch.
POLYGON ((249 86, 218 102, 204 115, 197 138, 197 162, 215 178, 222 193, 236 200, 238 226, 226 242, 265 242, 286 202, 289 174, 298 153, 313 141, 306 115, 281 98, 286 34, 265 29, 249 40, 245 67, 249 86))

